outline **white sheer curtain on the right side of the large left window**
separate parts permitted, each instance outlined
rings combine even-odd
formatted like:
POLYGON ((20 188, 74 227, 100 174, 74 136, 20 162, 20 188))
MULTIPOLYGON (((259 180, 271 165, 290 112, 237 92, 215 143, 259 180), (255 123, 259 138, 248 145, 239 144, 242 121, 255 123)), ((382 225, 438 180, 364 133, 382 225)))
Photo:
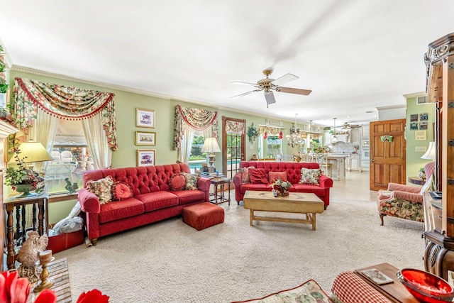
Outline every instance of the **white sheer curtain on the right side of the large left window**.
POLYGON ((112 150, 107 143, 106 133, 101 121, 101 113, 90 119, 82 120, 85 138, 93 158, 95 169, 104 169, 111 166, 112 150))

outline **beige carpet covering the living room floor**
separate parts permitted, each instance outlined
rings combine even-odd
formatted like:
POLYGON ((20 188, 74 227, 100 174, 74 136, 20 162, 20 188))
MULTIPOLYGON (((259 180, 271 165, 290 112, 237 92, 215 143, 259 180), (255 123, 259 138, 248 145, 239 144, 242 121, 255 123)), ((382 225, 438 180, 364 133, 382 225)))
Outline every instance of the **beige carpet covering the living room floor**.
POLYGON ((231 302, 388 262, 423 269, 423 224, 384 218, 375 202, 332 200, 304 224, 256 222, 243 205, 221 204, 223 224, 196 231, 168 219, 55 254, 66 257, 73 301, 97 288, 110 302, 231 302))

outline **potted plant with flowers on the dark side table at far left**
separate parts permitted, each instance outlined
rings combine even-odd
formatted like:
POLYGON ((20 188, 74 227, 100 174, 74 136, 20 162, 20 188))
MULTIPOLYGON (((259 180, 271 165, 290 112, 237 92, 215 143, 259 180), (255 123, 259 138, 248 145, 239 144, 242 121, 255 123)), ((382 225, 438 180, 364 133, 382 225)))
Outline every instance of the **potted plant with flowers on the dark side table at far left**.
POLYGON ((30 196, 31 191, 36 193, 43 192, 45 182, 38 172, 30 170, 24 166, 26 157, 21 158, 21 150, 13 148, 13 158, 17 161, 17 167, 8 167, 5 172, 5 184, 10 185, 16 192, 23 192, 21 197, 30 196))

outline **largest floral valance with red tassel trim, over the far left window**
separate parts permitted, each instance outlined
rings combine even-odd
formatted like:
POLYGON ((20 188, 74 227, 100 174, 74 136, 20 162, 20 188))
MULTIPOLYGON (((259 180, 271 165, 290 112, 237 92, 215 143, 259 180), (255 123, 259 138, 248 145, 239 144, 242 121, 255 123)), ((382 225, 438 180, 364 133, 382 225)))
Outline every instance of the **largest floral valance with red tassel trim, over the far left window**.
POLYGON ((33 79, 15 78, 13 92, 13 116, 19 128, 33 125, 38 106, 59 119, 82 120, 101 114, 109 148, 117 149, 115 94, 59 84, 39 82, 33 79))

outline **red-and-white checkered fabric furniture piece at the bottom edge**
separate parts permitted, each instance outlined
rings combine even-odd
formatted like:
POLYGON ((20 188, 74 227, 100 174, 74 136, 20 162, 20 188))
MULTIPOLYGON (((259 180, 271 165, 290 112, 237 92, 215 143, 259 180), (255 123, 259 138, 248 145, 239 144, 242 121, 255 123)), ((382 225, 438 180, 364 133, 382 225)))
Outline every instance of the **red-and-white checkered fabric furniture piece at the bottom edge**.
MULTIPOLYGON (((390 303, 387 297, 368 285, 354 272, 342 272, 333 282, 331 292, 342 303, 390 303)), ((336 300, 337 302, 337 300, 336 300)))

